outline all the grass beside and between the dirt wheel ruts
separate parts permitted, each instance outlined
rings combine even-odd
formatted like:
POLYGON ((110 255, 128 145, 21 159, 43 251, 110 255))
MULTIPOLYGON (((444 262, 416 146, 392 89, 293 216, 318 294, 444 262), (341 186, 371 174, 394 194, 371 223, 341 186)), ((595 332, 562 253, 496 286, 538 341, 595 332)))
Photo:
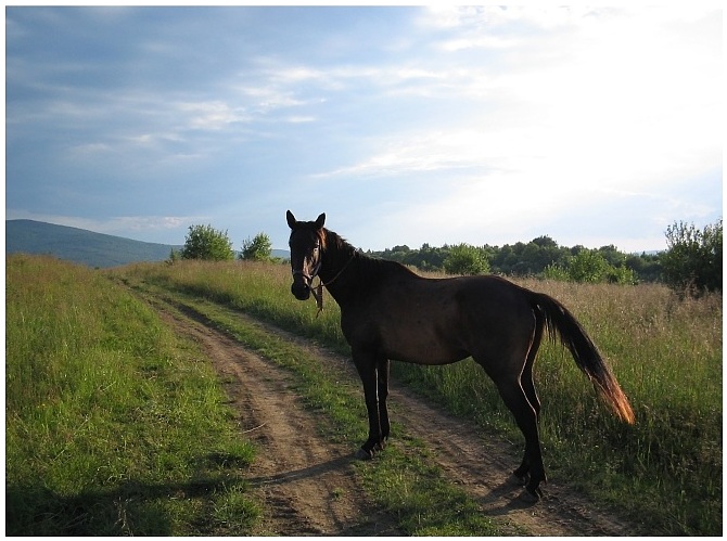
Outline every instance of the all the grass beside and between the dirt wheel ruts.
MULTIPOLYGON (((11 256, 5 278, 8 533, 250 531, 259 514, 244 482, 253 450, 234 433, 212 369, 195 346, 174 336, 114 282, 143 281, 192 294, 213 300, 209 306, 220 313, 225 307, 232 314, 244 310, 347 352, 330 296, 316 318, 313 301, 290 294, 290 270, 262 263, 186 261, 101 272, 11 256)), ((620 424, 560 346, 544 343, 536 381, 550 477, 577 485, 654 534, 720 534, 722 297, 678 300, 656 285, 521 283, 576 314, 637 415, 636 426, 620 424)), ((289 347, 270 337, 241 338, 266 356, 289 347)), ((396 385, 406 383, 521 441, 494 386, 473 362, 430 369, 394 363, 393 372, 396 385)), ((360 439, 360 389, 346 391, 353 399, 333 396, 324 378, 309 384, 311 407, 324 411, 334 429, 355 425, 342 437, 360 439)), ((416 446, 407 440, 405 447, 416 446)), ((378 467, 401 473, 401 485, 374 499, 399 516, 405 531, 465 534, 486 527, 474 507, 459 514, 470 524, 455 524, 438 511, 422 523, 421 510, 432 504, 414 507, 411 500, 401 501, 403 492, 435 494, 448 502, 444 507, 472 503, 396 446, 386 454, 378 467)))

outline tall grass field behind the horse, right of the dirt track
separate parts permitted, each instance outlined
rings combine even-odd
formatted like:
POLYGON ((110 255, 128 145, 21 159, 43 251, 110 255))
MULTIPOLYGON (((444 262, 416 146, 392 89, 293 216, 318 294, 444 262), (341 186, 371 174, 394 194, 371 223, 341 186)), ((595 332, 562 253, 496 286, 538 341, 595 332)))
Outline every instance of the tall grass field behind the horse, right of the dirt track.
MULTIPOLYGON (((339 310, 290 294, 286 267, 183 262, 125 269, 170 291, 244 310, 341 351, 339 310)), ((722 297, 678 300, 660 285, 521 282, 552 295, 584 324, 629 396, 634 427, 599 403, 560 346, 544 343, 536 382, 551 478, 665 534, 722 533, 722 297)), ((471 361, 445 368, 394 363, 394 375, 451 411, 519 438, 494 386, 471 361)))

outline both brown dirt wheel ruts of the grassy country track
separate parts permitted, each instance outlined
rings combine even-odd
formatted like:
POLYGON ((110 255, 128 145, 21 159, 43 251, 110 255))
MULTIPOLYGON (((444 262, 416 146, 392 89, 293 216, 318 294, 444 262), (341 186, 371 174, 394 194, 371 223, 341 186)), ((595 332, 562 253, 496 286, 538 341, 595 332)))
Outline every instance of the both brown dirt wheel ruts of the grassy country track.
MULTIPOLYGON (((251 482, 266 516, 257 534, 397 536, 393 517, 378 512, 357 485, 355 449, 318 436, 314 414, 290 386, 292 377, 239 342, 199 318, 179 315, 154 302, 162 318, 191 336, 212 359, 230 403, 239 412, 240 429, 258 447, 251 482)), ((241 315, 242 317, 242 315, 241 315)), ((259 324, 259 323, 257 323, 259 324)), ((353 369, 347 359, 310 346, 270 325, 316 353, 321 362, 353 369)), ((362 400, 362 397, 361 397, 362 400)), ((502 441, 484 439, 468 424, 449 416, 393 385, 393 418, 434 451, 434 460, 497 520, 503 531, 531 536, 628 536, 635 529, 603 513, 572 489, 550 482, 546 499, 527 505, 520 488, 508 482, 519 453, 502 441)), ((395 437, 395 435, 394 435, 395 437)))

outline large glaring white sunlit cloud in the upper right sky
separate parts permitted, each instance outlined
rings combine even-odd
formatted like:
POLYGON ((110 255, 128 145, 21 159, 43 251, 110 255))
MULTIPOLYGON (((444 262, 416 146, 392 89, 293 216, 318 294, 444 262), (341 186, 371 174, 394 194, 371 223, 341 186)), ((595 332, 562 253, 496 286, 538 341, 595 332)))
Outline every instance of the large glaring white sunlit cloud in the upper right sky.
MULTIPOLYGON (((456 62, 438 73, 380 70, 380 81, 417 77, 412 86, 419 92, 429 81, 444 81, 452 100, 468 100, 471 115, 464 124, 452 121, 423 136, 419 126, 401 130, 374 144, 368 157, 321 177, 457 175, 457 169, 480 168, 551 185, 616 189, 668 182, 720 163, 715 44, 698 39, 699 28, 687 42, 669 39, 674 13, 647 10, 623 17, 610 11, 496 8, 435 11, 434 16, 448 28, 523 20, 544 28, 570 26, 567 33, 519 34, 539 50, 543 62, 515 63, 507 74, 486 64, 467 70, 456 62), (645 24, 655 15, 664 23, 645 24)), ((477 39, 483 47, 510 42, 507 36, 477 39)))

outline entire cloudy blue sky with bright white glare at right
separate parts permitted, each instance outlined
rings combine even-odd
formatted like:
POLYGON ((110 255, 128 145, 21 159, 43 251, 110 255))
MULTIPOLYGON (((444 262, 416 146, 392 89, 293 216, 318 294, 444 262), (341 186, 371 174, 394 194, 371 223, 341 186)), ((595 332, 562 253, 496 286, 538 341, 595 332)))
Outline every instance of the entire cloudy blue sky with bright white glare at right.
POLYGON ((722 216, 722 11, 7 8, 5 217, 664 249, 722 216))

